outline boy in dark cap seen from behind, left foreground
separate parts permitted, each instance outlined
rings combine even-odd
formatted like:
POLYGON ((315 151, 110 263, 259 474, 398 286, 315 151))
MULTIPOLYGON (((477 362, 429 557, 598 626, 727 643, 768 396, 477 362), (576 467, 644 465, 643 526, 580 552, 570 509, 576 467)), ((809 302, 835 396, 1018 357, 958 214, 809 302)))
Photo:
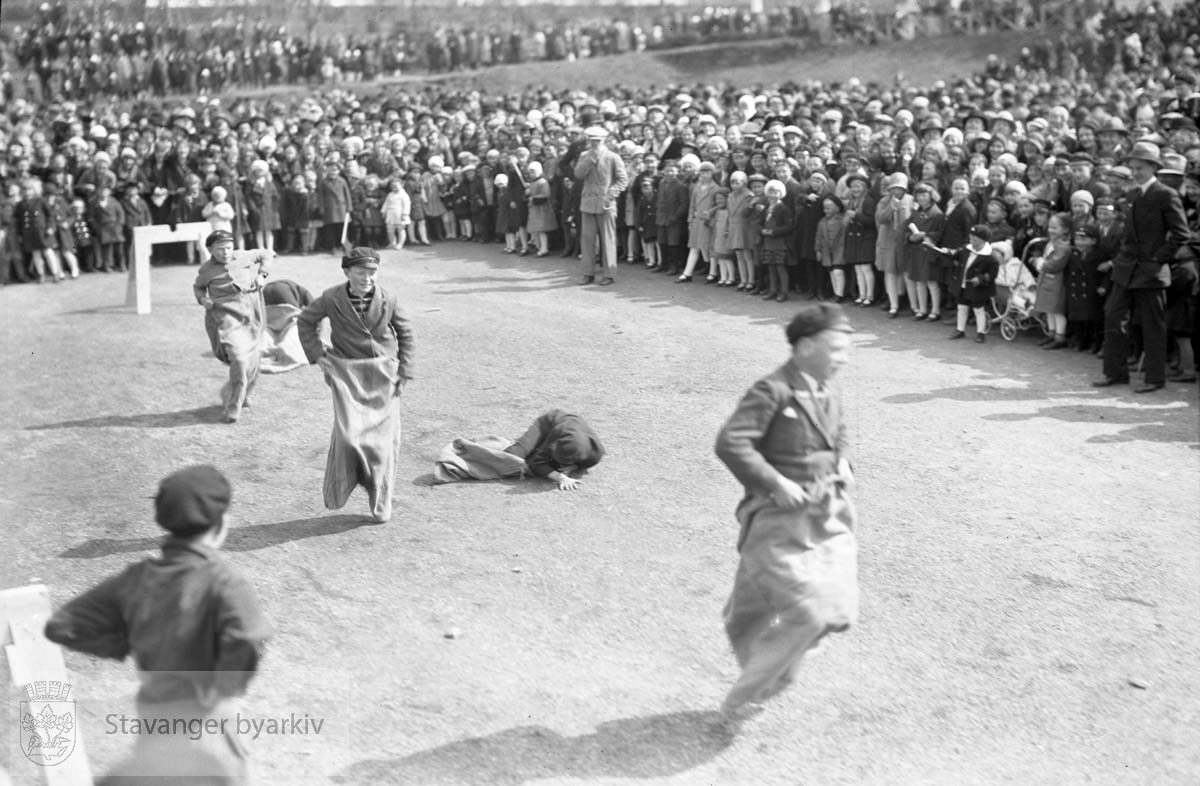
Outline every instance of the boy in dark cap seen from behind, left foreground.
POLYGON ((173 732, 136 734, 133 756, 110 773, 112 782, 246 778, 239 698, 271 630, 253 587, 220 554, 230 498, 215 467, 168 475, 155 497, 155 521, 168 533, 162 553, 106 578, 46 623, 46 637, 68 649, 114 660, 133 655, 137 718, 156 730, 166 720, 173 732), (191 733, 180 733, 185 727, 191 733))

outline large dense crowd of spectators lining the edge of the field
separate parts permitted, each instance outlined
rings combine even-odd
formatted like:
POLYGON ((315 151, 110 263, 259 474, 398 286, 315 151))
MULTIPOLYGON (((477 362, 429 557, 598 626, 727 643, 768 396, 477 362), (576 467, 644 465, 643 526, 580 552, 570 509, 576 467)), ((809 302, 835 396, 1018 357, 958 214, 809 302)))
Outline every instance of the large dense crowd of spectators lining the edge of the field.
POLYGON ((0 121, 0 276, 119 270, 145 223, 209 221, 239 245, 336 253, 347 214, 361 245, 574 257, 572 164, 599 126, 628 173, 623 262, 730 296, 834 298, 929 324, 974 305, 962 263, 983 238, 1038 277, 1046 347, 1097 353, 1134 154, 1187 211, 1169 319, 1195 336, 1200 8, 1088 23, 1069 52, 989 58, 930 85, 16 100, 0 121), (1048 248, 1064 247, 1060 268, 1048 248))

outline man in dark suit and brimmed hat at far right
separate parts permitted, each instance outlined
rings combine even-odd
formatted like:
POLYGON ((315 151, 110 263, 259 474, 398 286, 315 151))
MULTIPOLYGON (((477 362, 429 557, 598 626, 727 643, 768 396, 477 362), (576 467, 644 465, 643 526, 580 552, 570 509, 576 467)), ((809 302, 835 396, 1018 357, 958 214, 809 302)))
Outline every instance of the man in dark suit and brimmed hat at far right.
POLYGON ((1188 241, 1188 222, 1180 194, 1154 178, 1162 166, 1158 145, 1139 142, 1127 160, 1134 185, 1121 250, 1112 260, 1112 290, 1104 302, 1104 379, 1097 388, 1129 382, 1126 320, 1141 324, 1145 384, 1134 392, 1166 386, 1166 289, 1170 263, 1188 241))

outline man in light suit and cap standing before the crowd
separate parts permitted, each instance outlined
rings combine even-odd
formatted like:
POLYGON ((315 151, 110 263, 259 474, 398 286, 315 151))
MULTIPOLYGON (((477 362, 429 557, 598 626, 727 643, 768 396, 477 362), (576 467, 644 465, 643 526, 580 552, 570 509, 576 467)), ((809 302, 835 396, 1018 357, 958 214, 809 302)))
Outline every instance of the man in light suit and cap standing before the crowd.
POLYGON ((625 190, 629 178, 620 156, 605 148, 608 132, 604 126, 590 126, 584 136, 588 149, 575 164, 575 179, 583 184, 580 197, 583 280, 580 283, 589 284, 600 276, 600 284, 608 286, 617 272, 617 197, 625 190))

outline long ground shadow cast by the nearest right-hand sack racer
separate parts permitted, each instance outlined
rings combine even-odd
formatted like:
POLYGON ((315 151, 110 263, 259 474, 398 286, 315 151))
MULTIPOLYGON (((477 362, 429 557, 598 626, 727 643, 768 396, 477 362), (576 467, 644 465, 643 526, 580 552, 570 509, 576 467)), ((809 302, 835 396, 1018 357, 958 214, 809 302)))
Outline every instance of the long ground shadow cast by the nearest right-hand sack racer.
POLYGON ((461 739, 401 758, 367 760, 338 784, 521 786, 547 778, 665 778, 712 760, 733 742, 715 712, 689 710, 601 724, 563 737, 541 726, 461 739))

